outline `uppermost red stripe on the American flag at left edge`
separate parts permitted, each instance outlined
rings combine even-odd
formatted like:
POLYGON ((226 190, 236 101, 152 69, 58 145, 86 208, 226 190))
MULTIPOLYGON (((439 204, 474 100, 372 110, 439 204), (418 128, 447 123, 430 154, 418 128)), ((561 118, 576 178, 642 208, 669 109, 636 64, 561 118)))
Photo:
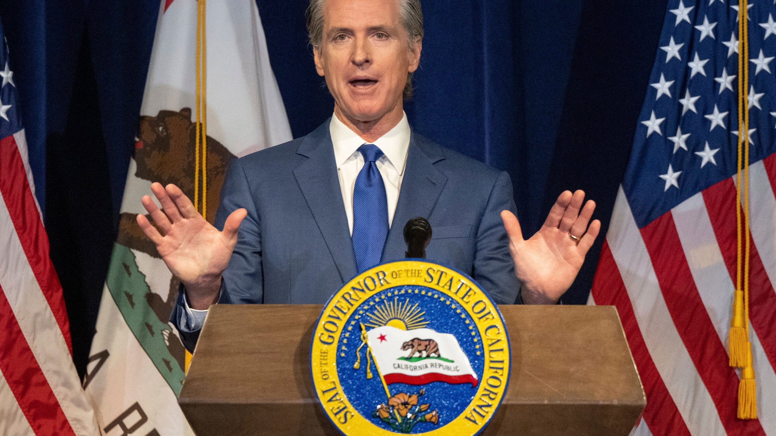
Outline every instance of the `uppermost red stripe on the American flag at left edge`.
POLYGON ((64 341, 72 355, 68 312, 65 310, 62 285, 54 271, 49 257, 49 240, 46 229, 40 221, 40 213, 35 205, 33 191, 29 188, 24 171, 22 155, 13 136, 0 140, 0 193, 5 199, 5 207, 16 228, 16 234, 22 243, 24 253, 35 279, 46 297, 51 312, 59 324, 64 341))

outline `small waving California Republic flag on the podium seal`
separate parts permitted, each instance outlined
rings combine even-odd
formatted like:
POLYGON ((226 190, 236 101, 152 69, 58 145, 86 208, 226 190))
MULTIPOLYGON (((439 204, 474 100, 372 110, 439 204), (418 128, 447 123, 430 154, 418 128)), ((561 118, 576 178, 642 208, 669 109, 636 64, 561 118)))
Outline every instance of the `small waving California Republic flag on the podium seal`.
POLYGON ((376 327, 366 333, 386 384, 471 383, 477 375, 455 336, 430 328, 376 327))

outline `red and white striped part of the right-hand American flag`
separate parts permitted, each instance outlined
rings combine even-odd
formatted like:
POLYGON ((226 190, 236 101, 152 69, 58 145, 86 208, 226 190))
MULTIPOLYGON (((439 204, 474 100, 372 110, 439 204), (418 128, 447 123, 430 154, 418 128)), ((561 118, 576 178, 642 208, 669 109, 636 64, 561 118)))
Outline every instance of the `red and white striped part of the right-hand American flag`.
POLYGON ((617 306, 647 404, 632 434, 776 436, 776 154, 750 167, 750 330, 757 420, 736 417, 727 340, 736 277, 733 178, 642 229, 620 188, 591 303, 617 306))

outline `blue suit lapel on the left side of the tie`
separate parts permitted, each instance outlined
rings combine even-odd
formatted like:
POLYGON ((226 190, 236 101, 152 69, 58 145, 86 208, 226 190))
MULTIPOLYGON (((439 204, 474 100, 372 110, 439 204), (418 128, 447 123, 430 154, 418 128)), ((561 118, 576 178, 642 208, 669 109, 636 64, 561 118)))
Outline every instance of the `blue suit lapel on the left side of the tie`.
POLYGON ((345 282, 356 273, 355 254, 348 229, 348 216, 345 215, 342 203, 329 122, 307 135, 296 153, 308 157, 294 168, 296 183, 345 282))

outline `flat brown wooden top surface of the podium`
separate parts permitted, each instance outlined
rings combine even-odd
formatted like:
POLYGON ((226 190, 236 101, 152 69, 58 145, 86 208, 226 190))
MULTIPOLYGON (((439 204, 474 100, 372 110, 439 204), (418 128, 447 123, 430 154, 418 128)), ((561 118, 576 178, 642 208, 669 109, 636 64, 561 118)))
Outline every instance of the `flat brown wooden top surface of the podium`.
MULTIPOLYGON (((320 305, 210 309, 178 402, 316 403, 310 337, 320 305)), ((512 367, 504 404, 646 403, 613 306, 499 306, 512 367)))

